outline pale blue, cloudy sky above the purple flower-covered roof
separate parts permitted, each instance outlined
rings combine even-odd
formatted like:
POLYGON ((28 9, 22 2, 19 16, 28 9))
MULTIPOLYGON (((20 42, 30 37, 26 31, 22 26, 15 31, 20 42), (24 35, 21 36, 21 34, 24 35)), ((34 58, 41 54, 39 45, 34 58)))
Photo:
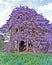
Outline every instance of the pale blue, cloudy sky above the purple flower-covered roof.
POLYGON ((0 0, 0 27, 7 22, 12 10, 20 5, 35 9, 52 23, 52 0, 0 0))

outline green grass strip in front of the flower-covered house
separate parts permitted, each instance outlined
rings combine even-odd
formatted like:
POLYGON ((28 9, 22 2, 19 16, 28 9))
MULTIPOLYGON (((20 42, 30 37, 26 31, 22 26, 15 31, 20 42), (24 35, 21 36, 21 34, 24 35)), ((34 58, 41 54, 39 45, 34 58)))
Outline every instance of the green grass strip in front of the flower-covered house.
POLYGON ((52 55, 0 52, 0 65, 52 65, 52 55))

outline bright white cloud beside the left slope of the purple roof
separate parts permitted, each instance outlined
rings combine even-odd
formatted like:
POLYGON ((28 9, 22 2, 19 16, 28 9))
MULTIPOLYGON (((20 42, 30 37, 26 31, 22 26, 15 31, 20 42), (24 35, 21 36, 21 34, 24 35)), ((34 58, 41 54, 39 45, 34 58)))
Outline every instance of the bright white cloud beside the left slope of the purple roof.
POLYGON ((5 9, 0 12, 0 27, 6 23, 6 20, 9 18, 10 9, 5 9))

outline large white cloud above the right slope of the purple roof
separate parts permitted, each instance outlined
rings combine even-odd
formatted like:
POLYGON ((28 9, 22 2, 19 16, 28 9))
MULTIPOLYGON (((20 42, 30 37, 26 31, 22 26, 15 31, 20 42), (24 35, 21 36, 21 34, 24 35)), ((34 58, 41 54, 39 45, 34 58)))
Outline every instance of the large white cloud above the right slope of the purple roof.
POLYGON ((42 13, 45 18, 50 20, 50 23, 52 23, 52 3, 48 3, 48 5, 40 6, 37 9, 38 13, 42 13))

